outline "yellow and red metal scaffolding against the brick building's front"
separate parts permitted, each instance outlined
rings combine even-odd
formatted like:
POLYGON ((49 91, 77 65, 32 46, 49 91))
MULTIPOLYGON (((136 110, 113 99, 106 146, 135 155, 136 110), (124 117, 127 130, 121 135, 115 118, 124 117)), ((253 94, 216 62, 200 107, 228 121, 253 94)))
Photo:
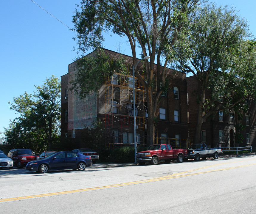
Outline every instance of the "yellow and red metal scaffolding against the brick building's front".
POLYGON ((145 145, 144 130, 147 123, 146 93, 135 77, 114 73, 105 77, 104 122, 107 140, 113 147, 134 145, 133 87, 135 90, 135 114, 137 144, 145 145))

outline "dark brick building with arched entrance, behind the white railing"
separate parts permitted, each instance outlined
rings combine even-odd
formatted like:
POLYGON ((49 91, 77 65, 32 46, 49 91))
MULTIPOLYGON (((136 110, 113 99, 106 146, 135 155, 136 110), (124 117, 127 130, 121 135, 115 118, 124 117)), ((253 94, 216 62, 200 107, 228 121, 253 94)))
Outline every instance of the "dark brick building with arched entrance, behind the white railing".
MULTIPOLYGON (((188 92, 188 111, 189 111, 189 136, 193 141, 194 130, 196 127, 197 109, 198 103, 196 99, 195 89, 198 88, 197 81, 194 76, 187 77, 187 92, 188 92)), ((210 94, 205 93, 205 99, 209 98, 210 94)), ((212 117, 206 119, 201 127, 200 142, 206 143, 211 147, 242 147, 242 146, 256 146, 256 106, 252 99, 246 100, 248 103, 248 110, 246 112, 241 111, 242 119, 238 119, 232 109, 228 114, 222 111, 217 112, 212 117), (245 126, 241 130, 243 136, 243 143, 238 144, 235 139, 236 128, 235 125, 241 123, 245 126)))

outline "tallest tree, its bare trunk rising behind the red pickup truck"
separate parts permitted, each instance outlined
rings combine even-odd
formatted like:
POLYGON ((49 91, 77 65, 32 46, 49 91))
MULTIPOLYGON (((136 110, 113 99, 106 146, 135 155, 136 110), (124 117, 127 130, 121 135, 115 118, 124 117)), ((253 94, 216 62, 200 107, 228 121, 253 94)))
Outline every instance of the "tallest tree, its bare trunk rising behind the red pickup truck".
MULTIPOLYGON (((128 39, 133 65, 138 62, 137 48, 142 58, 150 56, 150 62, 144 63, 143 75, 138 72, 138 68, 135 70, 135 76, 144 86, 148 97, 149 145, 155 141, 155 116, 160 96, 167 91, 170 84, 166 79, 166 68, 173 60, 173 45, 180 32, 187 28, 188 17, 198 2, 199 0, 83 0, 78 6, 80 9, 76 9, 73 16, 79 51, 84 53, 90 48, 101 48, 104 41, 103 33, 112 32, 128 39)), ((79 83, 86 72, 93 75, 98 71, 84 69, 77 75, 77 90, 83 91, 83 84, 79 83)), ((105 75, 108 70, 103 69, 100 72, 105 75)), ((132 69, 128 69, 128 72, 132 74, 132 69)))

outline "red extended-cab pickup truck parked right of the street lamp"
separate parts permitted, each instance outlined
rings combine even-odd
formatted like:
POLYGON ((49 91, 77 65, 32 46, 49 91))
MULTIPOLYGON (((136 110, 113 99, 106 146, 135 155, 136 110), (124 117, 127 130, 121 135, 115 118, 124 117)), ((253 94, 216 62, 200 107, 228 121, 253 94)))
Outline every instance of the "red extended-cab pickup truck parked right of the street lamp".
POLYGON ((158 161, 170 163, 171 160, 183 162, 187 157, 187 149, 172 149, 170 144, 154 144, 148 147, 147 151, 136 153, 136 161, 139 165, 144 165, 146 162, 156 165, 158 161))

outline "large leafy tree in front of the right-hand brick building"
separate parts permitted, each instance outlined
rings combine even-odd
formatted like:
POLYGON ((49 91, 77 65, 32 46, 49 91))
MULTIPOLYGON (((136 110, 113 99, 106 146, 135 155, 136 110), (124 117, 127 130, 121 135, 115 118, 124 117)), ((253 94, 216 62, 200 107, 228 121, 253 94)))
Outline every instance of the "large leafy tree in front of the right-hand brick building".
POLYGON ((177 44, 178 67, 192 73, 198 83, 198 118, 194 142, 201 125, 218 111, 246 109, 244 99, 255 97, 255 41, 248 40, 247 22, 228 7, 206 5, 191 16, 187 44, 177 44), (210 98, 204 100, 205 92, 210 98), (223 102, 218 102, 220 99, 223 102))

